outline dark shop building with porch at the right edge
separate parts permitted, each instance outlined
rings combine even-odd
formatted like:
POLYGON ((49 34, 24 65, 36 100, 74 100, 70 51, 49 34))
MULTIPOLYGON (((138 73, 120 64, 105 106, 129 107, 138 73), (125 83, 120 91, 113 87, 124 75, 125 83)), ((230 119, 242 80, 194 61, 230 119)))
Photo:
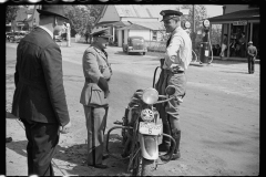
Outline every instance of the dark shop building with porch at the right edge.
MULTIPOLYGON (((259 55, 259 7, 257 4, 225 4, 223 15, 208 19, 211 24, 222 24, 222 37, 227 34, 227 58, 246 56, 247 42, 253 41, 259 55), (239 44, 242 33, 246 42, 239 44), (234 45, 233 45, 234 44, 234 45)), ((222 40, 221 40, 222 41, 222 40)))

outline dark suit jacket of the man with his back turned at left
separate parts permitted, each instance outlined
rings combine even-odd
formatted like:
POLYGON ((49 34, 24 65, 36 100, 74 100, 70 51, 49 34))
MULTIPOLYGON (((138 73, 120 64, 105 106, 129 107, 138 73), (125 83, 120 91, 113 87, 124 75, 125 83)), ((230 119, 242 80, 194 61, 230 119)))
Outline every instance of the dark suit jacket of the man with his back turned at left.
POLYGON ((14 84, 16 116, 62 126, 69 123, 61 50, 41 28, 25 35, 17 48, 14 84))

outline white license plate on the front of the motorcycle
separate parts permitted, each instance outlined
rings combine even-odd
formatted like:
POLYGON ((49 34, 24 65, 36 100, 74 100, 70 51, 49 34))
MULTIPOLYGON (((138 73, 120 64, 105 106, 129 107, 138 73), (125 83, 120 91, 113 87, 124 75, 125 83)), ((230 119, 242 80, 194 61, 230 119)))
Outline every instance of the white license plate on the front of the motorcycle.
POLYGON ((139 132, 145 135, 160 135, 162 134, 162 124, 155 125, 152 123, 140 122, 139 132))

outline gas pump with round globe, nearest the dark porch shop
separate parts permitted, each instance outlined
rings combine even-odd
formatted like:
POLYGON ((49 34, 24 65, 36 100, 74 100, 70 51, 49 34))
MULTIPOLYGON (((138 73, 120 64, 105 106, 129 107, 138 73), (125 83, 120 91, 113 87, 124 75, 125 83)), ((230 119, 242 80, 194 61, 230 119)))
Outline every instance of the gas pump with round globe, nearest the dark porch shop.
POLYGON ((212 44, 211 44, 211 40, 209 40, 209 21, 208 20, 203 21, 203 31, 204 31, 205 35, 203 37, 201 48, 200 48, 200 63, 201 64, 202 63, 211 64, 213 61, 213 52, 211 52, 212 60, 208 61, 208 55, 209 55, 208 44, 209 44, 209 49, 212 51, 212 44))

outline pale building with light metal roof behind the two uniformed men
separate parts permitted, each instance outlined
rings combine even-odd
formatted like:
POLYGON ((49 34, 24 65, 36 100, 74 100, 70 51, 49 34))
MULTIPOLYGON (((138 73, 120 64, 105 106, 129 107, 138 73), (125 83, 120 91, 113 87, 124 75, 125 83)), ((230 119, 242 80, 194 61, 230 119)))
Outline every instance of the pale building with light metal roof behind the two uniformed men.
POLYGON ((113 34, 113 41, 119 46, 127 43, 127 37, 141 35, 145 41, 161 41, 165 34, 163 27, 162 10, 180 10, 180 6, 167 4, 109 4, 95 21, 92 30, 109 28, 113 34))

